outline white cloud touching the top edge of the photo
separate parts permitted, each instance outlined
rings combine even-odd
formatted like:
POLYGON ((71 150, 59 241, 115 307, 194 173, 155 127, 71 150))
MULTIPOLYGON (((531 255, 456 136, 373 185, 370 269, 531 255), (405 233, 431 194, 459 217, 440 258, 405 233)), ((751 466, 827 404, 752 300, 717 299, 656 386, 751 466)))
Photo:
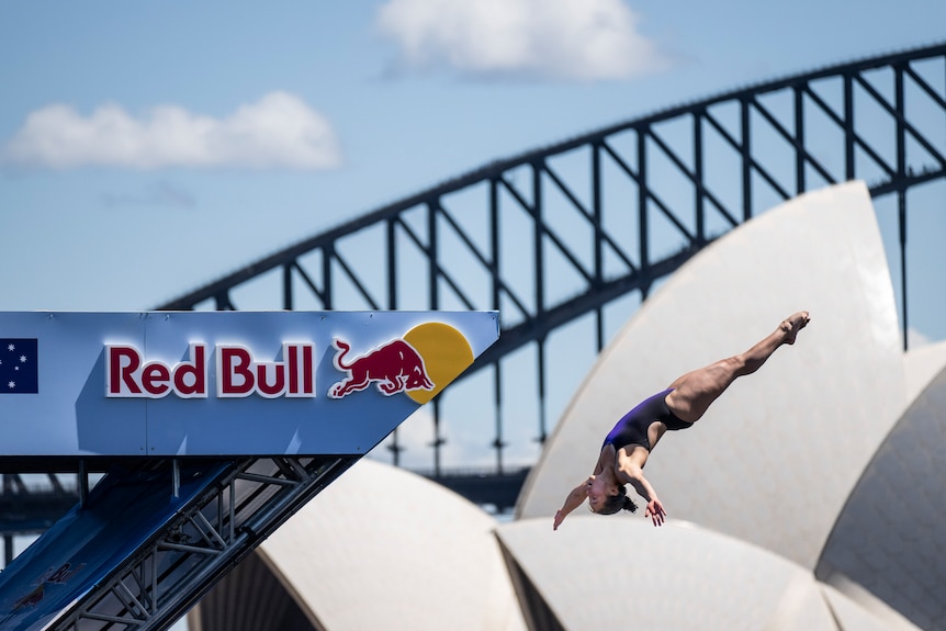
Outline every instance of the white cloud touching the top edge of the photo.
POLYGON ((378 13, 408 68, 584 81, 667 65, 637 22, 621 0, 391 0, 378 13))

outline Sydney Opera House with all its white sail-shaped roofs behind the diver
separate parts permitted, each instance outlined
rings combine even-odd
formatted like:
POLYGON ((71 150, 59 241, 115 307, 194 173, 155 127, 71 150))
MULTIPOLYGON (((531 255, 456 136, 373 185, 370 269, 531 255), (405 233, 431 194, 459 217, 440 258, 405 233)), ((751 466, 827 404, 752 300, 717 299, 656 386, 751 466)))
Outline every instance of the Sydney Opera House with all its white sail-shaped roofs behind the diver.
POLYGON ((867 188, 804 194, 701 250, 600 354, 499 521, 363 460, 189 616, 196 631, 946 629, 946 346, 903 351, 867 188), (668 512, 552 517, 615 421, 788 314, 647 478, 668 512))

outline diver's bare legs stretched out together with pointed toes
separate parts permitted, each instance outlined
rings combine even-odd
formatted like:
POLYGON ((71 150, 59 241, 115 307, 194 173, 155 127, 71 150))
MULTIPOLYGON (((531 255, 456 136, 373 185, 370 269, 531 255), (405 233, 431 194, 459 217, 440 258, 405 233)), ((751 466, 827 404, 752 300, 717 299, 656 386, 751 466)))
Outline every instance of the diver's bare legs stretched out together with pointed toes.
POLYGON ((798 312, 782 320, 777 329, 744 353, 680 376, 671 384, 674 391, 666 397, 671 412, 683 420, 697 420, 736 378, 757 371, 781 345, 795 343, 798 331, 804 328, 810 319, 808 312, 798 312))

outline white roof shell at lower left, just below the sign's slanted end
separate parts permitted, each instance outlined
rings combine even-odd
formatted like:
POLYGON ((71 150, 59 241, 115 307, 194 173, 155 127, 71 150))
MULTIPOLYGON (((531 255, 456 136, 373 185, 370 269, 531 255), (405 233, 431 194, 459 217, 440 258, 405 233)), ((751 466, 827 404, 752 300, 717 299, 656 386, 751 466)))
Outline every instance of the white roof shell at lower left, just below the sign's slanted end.
POLYGON ((442 486, 363 459, 257 553, 331 631, 525 631, 495 527, 442 486))

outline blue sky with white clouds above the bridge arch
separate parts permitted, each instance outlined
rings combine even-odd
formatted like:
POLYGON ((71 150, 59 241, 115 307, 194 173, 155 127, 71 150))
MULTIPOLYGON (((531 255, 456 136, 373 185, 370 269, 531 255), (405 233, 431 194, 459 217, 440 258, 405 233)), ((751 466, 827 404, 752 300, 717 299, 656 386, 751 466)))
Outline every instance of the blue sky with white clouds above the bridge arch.
POLYGON ((491 160, 943 24, 937 0, 4 2, 0 309, 154 307, 491 160))

